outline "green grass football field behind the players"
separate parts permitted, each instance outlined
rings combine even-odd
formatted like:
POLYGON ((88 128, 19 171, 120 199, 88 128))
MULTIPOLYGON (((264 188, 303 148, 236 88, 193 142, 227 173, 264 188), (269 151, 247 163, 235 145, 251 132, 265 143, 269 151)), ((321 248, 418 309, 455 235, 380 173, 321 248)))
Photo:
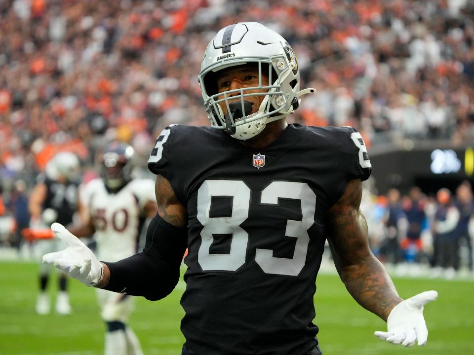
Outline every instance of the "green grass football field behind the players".
MULTIPOLYGON (((99 355, 104 325, 93 288, 72 281, 71 316, 35 313, 37 266, 0 262, 0 355, 99 355)), ((53 283, 56 284, 56 273, 53 283)), ((315 296, 319 341, 324 355, 473 355, 474 283, 428 279, 394 279, 402 297, 436 289, 439 298, 425 308, 430 330, 425 347, 403 348, 374 337, 385 322, 363 310, 349 296, 336 275, 320 275, 315 296)), ((53 288, 53 287, 50 287, 53 288)), ((56 287, 54 287, 56 288, 56 287)), ((179 355, 184 341, 179 331, 183 310, 181 281, 164 300, 139 298, 129 324, 146 355, 179 355)), ((54 295, 54 292, 52 293, 54 295)))

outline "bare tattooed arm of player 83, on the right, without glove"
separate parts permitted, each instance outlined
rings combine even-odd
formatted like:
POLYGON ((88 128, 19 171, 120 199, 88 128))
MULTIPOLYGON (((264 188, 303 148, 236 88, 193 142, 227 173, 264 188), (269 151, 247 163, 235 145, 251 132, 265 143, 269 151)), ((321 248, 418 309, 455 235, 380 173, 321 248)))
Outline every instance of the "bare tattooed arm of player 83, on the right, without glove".
POLYGON ((384 266, 369 249, 367 223, 359 210, 361 198, 362 183, 354 179, 326 214, 328 242, 337 272, 352 297, 387 320, 402 299, 384 266))

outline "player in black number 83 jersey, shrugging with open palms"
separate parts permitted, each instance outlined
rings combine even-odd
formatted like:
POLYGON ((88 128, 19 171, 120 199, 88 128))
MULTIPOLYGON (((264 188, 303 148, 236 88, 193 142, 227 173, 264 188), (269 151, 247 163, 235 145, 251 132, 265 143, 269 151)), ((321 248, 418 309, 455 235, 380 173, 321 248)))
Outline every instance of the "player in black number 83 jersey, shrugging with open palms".
POLYGON ((359 210, 371 164, 350 127, 287 124, 300 97, 296 56, 255 22, 220 30, 198 75, 211 127, 170 126, 148 161, 158 214, 143 252, 99 262, 60 224, 69 247, 44 256, 84 284, 158 300, 179 278, 182 354, 320 354, 316 275, 328 240, 356 301, 388 321, 375 335, 424 345, 426 291, 403 300, 371 253, 359 210), (84 261, 85 260, 85 261, 84 261))

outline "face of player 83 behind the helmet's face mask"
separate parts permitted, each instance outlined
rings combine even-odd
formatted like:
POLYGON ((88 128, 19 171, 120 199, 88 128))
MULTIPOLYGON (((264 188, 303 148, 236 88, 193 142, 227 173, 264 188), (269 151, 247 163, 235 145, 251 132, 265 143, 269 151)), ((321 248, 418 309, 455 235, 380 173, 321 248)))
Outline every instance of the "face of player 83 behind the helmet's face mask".
MULTIPOLYGON (((217 77, 217 85, 219 88, 219 92, 248 88, 253 86, 260 86, 259 83, 259 72, 258 68, 252 67, 235 67, 229 68, 227 70, 223 70, 219 72, 217 77)), ((262 83, 261 86, 268 86, 268 75, 262 73, 262 83)), ((268 89, 256 89, 256 90, 246 90, 245 94, 250 93, 262 93, 267 92, 268 89)), ((240 100, 239 92, 235 92, 230 94, 229 96, 237 96, 238 98, 232 100, 228 100, 229 103, 234 101, 240 100)), ((222 97, 219 97, 221 99, 222 97)), ((255 96, 247 96, 245 97, 245 101, 249 101, 252 104, 252 111, 251 113, 257 112, 260 104, 262 103, 263 99, 265 99, 264 95, 255 95, 255 96)), ((224 115, 227 114, 227 105, 225 102, 219 103, 222 110, 224 111, 224 115)))

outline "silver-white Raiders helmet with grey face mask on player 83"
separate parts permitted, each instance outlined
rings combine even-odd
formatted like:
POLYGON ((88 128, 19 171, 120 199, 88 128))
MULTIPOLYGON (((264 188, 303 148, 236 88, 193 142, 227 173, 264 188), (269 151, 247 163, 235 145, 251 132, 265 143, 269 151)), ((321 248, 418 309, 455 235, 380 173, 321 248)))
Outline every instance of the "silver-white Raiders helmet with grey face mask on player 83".
POLYGON ((220 30, 207 45, 198 80, 211 126, 225 129, 238 140, 255 137, 267 123, 293 112, 299 106, 300 96, 316 91, 299 91, 300 71, 293 49, 282 36, 258 22, 239 22, 220 30), (218 92, 217 71, 249 64, 258 66, 259 86, 218 92), (268 86, 262 85, 262 73, 269 77, 268 86), (265 98, 257 112, 248 114, 251 106, 245 105, 245 98, 255 95, 265 98), (224 115, 219 106, 225 102, 227 112, 236 112, 236 104, 232 105, 234 109, 229 107, 231 96, 233 102, 240 99, 239 113, 234 113, 234 117, 224 115))

